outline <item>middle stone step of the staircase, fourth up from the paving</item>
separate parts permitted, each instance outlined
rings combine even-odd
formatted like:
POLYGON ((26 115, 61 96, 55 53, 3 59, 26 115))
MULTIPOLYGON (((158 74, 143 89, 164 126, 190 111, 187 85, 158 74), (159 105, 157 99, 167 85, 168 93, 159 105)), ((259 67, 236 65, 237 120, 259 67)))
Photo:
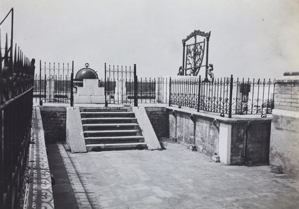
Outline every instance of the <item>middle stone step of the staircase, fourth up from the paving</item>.
POLYGON ((138 129, 138 123, 115 123, 115 124, 83 124, 83 131, 101 130, 132 130, 138 129))

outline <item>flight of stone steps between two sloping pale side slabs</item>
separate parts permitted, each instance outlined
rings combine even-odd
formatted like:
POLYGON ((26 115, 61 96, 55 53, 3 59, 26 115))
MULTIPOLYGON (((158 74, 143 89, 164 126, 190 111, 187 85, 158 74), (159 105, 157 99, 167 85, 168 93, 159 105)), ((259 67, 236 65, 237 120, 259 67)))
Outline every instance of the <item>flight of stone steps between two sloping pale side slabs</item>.
POLYGON ((130 108, 80 108, 80 115, 87 151, 147 148, 130 108))

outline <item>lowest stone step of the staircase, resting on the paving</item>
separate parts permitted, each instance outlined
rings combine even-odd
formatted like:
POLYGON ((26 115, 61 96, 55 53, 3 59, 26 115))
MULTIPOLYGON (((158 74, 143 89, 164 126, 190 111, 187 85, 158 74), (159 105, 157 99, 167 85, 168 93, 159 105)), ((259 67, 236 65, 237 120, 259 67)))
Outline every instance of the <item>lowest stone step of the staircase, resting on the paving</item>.
POLYGON ((108 150, 124 150, 124 149, 145 149, 147 143, 107 143, 107 144, 86 144, 87 151, 108 151, 108 150))

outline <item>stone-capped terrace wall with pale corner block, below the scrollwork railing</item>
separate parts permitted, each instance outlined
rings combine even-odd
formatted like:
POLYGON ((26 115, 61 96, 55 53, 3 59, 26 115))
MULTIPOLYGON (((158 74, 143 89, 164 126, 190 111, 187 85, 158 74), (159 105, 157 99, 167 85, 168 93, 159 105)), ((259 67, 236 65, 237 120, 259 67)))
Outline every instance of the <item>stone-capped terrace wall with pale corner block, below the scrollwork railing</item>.
POLYGON ((196 145, 208 156, 217 153, 226 165, 240 164, 245 157, 253 163, 269 162, 271 118, 243 116, 222 118, 211 113, 167 107, 169 137, 186 146, 196 145))

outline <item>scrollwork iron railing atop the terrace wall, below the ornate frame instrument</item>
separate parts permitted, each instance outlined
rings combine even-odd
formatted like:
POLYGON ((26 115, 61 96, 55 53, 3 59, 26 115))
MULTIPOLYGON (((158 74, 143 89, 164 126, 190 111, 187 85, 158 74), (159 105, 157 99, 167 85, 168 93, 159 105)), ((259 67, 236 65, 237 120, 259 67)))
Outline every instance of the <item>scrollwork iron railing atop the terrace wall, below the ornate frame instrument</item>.
POLYGON ((201 77, 180 77, 169 81, 169 106, 195 108, 220 113, 221 116, 261 115, 267 117, 274 108, 273 81, 266 79, 233 80, 218 78, 203 82, 201 77))

